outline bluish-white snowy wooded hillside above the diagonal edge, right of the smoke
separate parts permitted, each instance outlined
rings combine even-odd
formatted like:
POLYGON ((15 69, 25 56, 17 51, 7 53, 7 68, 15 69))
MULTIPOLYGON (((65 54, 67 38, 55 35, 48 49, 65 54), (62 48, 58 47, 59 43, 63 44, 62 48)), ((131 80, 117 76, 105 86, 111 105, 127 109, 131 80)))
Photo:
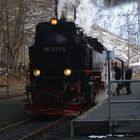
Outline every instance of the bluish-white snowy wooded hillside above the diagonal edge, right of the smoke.
POLYGON ((103 0, 99 1, 100 3, 97 2, 98 12, 93 22, 132 44, 138 44, 140 39, 138 3, 135 1, 107 9, 103 6, 103 0))

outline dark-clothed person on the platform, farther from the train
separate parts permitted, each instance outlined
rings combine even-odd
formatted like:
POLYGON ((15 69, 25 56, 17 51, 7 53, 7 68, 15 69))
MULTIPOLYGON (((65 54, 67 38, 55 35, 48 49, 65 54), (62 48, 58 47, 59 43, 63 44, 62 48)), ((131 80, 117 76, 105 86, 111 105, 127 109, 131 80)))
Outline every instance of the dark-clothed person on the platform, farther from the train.
MULTIPOLYGON (((126 71, 125 71, 125 80, 131 80, 132 78, 132 68, 130 68, 129 66, 126 67, 126 71)), ((126 87, 126 95, 129 95, 132 93, 131 88, 130 88, 130 83, 131 82, 126 82, 125 83, 125 87, 126 87)))

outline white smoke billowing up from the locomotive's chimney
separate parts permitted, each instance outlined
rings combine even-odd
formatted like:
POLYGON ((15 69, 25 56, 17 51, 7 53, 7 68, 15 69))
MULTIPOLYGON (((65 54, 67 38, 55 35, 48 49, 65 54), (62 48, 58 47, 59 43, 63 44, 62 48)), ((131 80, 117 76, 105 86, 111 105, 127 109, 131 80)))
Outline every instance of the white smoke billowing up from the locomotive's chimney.
POLYGON ((82 27, 85 33, 88 34, 90 27, 93 25, 93 18, 97 12, 94 2, 93 0, 59 0, 58 18, 61 18, 62 13, 66 18, 71 14, 73 14, 71 16, 74 16, 74 6, 76 7, 75 23, 82 27))

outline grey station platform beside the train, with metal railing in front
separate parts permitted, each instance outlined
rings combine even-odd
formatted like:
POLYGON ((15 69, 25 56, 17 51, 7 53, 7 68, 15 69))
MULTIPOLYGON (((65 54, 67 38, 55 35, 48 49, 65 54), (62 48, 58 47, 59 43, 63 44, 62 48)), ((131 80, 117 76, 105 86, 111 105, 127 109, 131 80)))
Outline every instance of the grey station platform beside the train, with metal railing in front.
POLYGON ((140 133, 140 83, 131 83, 131 89, 130 95, 123 88, 120 95, 111 94, 110 100, 73 119, 71 136, 140 133))

